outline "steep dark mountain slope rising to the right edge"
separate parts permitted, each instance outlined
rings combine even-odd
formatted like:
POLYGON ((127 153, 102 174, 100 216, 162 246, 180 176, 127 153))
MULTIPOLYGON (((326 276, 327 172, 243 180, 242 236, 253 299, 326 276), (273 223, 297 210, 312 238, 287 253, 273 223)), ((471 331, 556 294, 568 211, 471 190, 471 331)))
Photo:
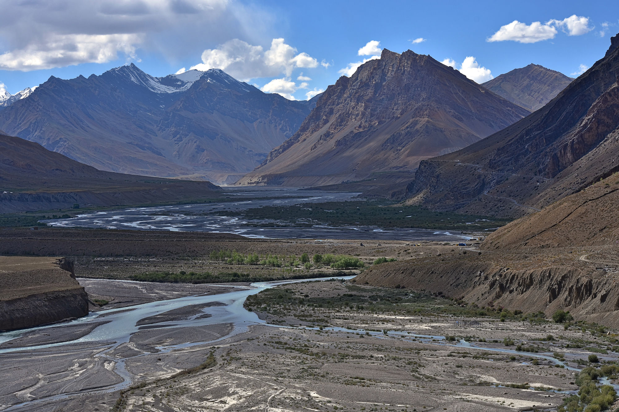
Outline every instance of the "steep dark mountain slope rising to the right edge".
POLYGON ((619 170, 619 35, 542 109, 458 152, 422 161, 408 202, 521 216, 619 170))

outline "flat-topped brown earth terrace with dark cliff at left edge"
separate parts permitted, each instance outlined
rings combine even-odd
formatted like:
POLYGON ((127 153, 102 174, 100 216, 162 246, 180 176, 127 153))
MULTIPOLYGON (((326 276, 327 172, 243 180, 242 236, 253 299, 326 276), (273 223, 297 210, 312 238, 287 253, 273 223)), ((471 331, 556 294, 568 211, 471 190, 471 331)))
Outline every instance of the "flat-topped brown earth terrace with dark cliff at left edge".
POLYGON ((88 295, 71 265, 49 257, 0 257, 0 330, 88 314, 88 295))

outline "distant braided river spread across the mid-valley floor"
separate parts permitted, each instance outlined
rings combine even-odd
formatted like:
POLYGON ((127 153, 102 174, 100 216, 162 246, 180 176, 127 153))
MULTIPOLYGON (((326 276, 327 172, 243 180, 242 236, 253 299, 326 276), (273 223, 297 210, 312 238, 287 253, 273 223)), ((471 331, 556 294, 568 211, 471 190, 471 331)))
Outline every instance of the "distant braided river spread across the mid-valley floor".
POLYGON ((79 214, 73 218, 43 220, 59 228, 85 227, 99 229, 202 231, 233 233, 247 238, 262 239, 359 239, 403 241, 457 241, 470 236, 459 232, 414 228, 379 228, 371 225, 295 227, 278 225, 277 221, 247 220, 238 213, 262 206, 286 206, 306 203, 342 202, 360 200, 353 192, 299 191, 298 189, 225 188, 231 198, 228 202, 131 207, 79 214), (234 198, 240 199, 235 202, 234 198), (266 199, 265 199, 266 198, 266 199), (230 215, 221 215, 226 210, 230 215), (217 214, 215 214, 217 212, 217 214), (264 223, 274 227, 256 227, 264 223))

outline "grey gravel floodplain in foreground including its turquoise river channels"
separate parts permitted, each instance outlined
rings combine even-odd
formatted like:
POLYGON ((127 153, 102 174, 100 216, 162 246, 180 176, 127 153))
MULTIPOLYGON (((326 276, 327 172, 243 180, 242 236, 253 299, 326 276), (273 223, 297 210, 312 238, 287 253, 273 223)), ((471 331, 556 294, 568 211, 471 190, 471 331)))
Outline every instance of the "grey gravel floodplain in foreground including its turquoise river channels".
POLYGON ((591 364, 589 354, 619 360, 613 332, 471 315, 429 294, 352 281, 255 286, 102 311, 66 325, 80 333, 57 325, 5 341, 77 338, 3 353, 11 382, 0 403, 103 411, 132 387, 120 410, 552 410, 576 389, 574 370, 591 364), (199 369, 210 354, 216 364, 199 369))

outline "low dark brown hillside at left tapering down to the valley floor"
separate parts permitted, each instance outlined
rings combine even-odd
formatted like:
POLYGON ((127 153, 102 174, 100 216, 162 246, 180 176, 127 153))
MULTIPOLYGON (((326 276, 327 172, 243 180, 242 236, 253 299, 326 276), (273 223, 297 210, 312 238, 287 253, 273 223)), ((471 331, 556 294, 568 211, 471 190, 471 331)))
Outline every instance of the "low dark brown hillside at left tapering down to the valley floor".
POLYGON ((19 137, 0 135, 0 213, 219 197, 207 181, 101 171, 19 137))

